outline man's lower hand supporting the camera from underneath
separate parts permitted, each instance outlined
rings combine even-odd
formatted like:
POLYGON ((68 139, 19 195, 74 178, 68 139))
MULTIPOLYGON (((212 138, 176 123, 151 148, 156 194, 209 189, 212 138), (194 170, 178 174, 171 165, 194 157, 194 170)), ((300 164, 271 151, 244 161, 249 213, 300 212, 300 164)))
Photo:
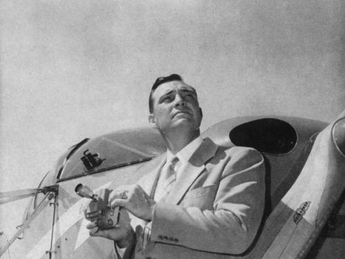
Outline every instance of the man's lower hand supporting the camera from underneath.
POLYGON ((110 240, 115 240, 120 248, 128 247, 132 239, 135 237, 135 233, 130 226, 130 219, 125 209, 119 211, 119 224, 111 229, 99 229, 97 221, 90 222, 86 225, 87 229, 90 229, 90 236, 101 236, 110 240))

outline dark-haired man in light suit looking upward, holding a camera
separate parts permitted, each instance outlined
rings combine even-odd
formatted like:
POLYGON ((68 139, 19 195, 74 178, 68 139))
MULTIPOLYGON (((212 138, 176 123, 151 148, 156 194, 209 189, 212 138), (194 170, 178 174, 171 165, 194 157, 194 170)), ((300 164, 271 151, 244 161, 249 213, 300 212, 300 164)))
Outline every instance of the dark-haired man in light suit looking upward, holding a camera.
POLYGON ((110 193, 111 207, 134 215, 132 226, 99 230, 91 236, 115 240, 129 258, 229 258, 244 253, 264 211, 264 160, 253 148, 217 146, 202 140, 202 112, 195 89, 179 75, 159 77, 152 86, 148 120, 167 153, 138 184, 110 193), (123 210, 122 210, 123 211, 123 210), (135 229, 135 231, 134 231, 135 229))

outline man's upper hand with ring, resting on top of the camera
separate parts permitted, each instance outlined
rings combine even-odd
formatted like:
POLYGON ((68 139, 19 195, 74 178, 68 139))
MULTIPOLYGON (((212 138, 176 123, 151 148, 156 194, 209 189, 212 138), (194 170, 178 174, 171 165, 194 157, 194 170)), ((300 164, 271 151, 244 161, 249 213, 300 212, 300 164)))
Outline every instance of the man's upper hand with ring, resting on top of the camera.
POLYGON ((141 220, 151 221, 156 202, 138 184, 123 185, 113 190, 108 199, 110 207, 124 207, 141 220))

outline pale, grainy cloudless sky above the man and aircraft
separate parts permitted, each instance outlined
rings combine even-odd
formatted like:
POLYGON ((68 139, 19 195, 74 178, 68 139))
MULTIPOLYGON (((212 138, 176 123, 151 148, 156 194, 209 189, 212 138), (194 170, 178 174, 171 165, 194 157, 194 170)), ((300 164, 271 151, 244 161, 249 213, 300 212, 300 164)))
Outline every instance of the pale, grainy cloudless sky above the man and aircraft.
POLYGON ((244 115, 331 122, 344 68, 343 0, 1 0, 0 191, 36 187, 85 137, 148 126, 159 76, 197 88, 205 130, 244 115))

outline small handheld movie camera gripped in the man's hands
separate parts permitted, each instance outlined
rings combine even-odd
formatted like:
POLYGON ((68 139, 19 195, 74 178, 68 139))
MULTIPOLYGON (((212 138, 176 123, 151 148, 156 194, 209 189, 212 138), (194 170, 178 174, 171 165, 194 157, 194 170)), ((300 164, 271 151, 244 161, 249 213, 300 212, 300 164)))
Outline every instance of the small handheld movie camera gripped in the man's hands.
POLYGON ((119 223, 119 207, 108 206, 109 189, 101 189, 97 195, 88 186, 78 184, 75 186, 75 192, 83 198, 90 199, 84 215, 87 220, 97 222, 99 229, 111 229, 119 223))

